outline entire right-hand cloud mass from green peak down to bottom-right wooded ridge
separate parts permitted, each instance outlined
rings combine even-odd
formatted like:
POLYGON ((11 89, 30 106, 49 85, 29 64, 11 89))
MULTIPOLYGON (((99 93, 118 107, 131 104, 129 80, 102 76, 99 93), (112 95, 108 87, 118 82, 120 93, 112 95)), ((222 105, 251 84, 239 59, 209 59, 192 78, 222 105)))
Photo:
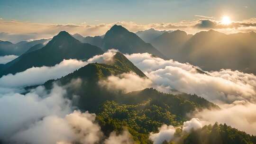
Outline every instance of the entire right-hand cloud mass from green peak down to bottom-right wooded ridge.
MULTIPOLYGON (((190 117, 200 118, 203 123, 198 119, 192 119, 184 123, 183 131, 189 131, 191 127, 200 128, 205 124, 219 122, 256 135, 255 75, 231 70, 201 73, 189 63, 163 60, 152 57, 150 54, 127 54, 126 56, 147 75, 157 90, 170 92, 175 89, 197 94, 217 103, 221 108, 205 109, 190 115, 190 117)), ((169 137, 165 139, 168 141, 172 138, 169 133, 173 131, 173 128, 166 127, 157 135, 168 133, 169 137)), ((163 138, 160 136, 156 138, 151 136, 155 144, 161 144, 158 143, 157 138, 162 142, 163 138)))

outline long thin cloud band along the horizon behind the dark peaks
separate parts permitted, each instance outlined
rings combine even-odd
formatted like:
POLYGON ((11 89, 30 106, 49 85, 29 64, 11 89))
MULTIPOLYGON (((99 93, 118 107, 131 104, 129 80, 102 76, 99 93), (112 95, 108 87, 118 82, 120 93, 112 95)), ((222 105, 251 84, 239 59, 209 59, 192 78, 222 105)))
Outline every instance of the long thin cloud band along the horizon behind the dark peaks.
POLYGON ((195 34, 202 29, 215 29, 224 33, 238 33, 256 31, 256 18, 234 21, 230 25, 222 25, 220 20, 212 20, 212 17, 196 16, 200 19, 183 20, 177 23, 150 23, 137 24, 135 22, 119 21, 114 23, 101 23, 97 25, 87 24, 41 24, 21 22, 16 20, 0 19, 0 39, 4 41, 19 42, 29 39, 50 38, 60 31, 68 31, 71 34, 79 33, 83 36, 104 35, 114 24, 122 25, 132 32, 155 28, 157 30, 183 30, 189 34, 195 34))

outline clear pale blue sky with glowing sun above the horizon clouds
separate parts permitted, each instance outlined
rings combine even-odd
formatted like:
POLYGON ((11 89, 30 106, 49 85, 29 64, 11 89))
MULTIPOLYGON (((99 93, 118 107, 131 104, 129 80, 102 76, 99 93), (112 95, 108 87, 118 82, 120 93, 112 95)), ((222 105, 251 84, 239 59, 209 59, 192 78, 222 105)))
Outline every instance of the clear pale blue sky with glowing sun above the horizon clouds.
POLYGON ((0 18, 37 23, 147 24, 192 20, 194 15, 242 20, 255 14, 256 0, 0 0, 0 18))

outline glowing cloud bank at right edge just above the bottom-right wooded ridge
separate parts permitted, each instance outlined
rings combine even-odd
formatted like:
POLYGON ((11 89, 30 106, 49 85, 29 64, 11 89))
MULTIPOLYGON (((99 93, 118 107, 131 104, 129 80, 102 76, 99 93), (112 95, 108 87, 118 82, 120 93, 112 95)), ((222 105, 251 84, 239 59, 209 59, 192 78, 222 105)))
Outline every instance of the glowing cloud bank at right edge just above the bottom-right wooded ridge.
POLYGON ((256 104, 246 101, 235 101, 232 104, 221 105, 219 110, 204 109, 192 115, 192 117, 199 117, 201 120, 214 124, 226 123, 229 126, 238 128, 248 134, 256 135, 256 104))

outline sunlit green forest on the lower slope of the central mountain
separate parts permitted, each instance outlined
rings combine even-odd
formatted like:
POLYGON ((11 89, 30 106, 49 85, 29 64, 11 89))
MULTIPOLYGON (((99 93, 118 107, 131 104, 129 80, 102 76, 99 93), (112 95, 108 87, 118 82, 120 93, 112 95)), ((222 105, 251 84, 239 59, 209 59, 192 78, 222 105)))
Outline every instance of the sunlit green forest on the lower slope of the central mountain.
POLYGON ((186 113, 196 108, 218 108, 195 95, 174 96, 152 88, 120 95, 116 101, 106 101, 100 106, 97 119, 102 131, 109 135, 113 130, 120 132, 126 128, 141 144, 150 143, 148 134, 157 132, 157 128, 164 124, 182 125, 189 120, 186 113), (194 101, 186 99, 190 96, 194 101))

